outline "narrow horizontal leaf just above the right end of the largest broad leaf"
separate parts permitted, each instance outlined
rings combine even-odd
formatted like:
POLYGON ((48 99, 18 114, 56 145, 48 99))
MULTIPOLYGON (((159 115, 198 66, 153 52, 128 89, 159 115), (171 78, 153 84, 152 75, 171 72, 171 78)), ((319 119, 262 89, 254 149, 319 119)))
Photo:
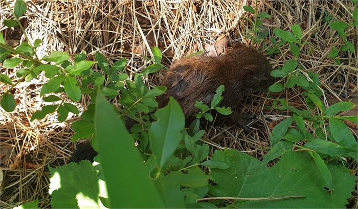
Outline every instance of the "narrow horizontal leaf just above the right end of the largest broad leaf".
POLYGON ((304 145, 304 147, 314 150, 315 152, 330 155, 332 157, 348 156, 348 152, 349 152, 349 150, 342 147, 341 145, 334 144, 327 140, 319 140, 319 139, 307 142, 304 145))

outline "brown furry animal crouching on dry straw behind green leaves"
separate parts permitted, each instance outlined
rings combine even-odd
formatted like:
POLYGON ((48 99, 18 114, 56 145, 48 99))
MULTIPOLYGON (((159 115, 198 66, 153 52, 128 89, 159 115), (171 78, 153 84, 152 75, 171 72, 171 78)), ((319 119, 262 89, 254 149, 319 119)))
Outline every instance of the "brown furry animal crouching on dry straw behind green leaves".
MULTIPOLYGON (((194 120, 193 115, 198 112, 194 107, 195 101, 203 101, 210 105, 215 90, 221 84, 225 85, 223 100, 220 106, 238 106, 238 101, 250 90, 262 90, 273 83, 270 76, 272 67, 267 59, 257 50, 238 43, 226 55, 206 57, 204 55, 184 58, 175 62, 161 83, 167 87, 164 95, 156 100, 159 107, 164 107, 172 96, 183 108, 187 125, 194 120)), ((218 115, 218 120, 228 119, 231 124, 247 128, 247 118, 236 112, 228 115, 218 115)), ((250 118, 249 118, 250 119, 250 118)), ((130 124, 130 123, 127 123, 130 124)), ((132 124, 132 123, 131 123, 132 124)), ((128 127, 128 130, 130 127, 128 127)), ((95 150, 89 142, 79 145, 70 161, 89 159, 93 161, 95 150)))

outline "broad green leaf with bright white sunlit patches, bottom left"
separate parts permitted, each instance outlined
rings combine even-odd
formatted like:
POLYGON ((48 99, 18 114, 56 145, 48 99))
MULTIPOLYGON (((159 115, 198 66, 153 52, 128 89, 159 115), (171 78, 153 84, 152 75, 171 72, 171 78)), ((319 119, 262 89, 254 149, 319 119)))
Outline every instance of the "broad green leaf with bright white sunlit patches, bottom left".
MULTIPOLYGON (((51 206, 53 208, 100 208, 97 172, 88 160, 50 170, 51 206), (85 171, 85 172, 84 172, 85 171), (66 179, 65 181, 63 179, 66 179)), ((102 206, 102 208, 104 208, 102 206)))

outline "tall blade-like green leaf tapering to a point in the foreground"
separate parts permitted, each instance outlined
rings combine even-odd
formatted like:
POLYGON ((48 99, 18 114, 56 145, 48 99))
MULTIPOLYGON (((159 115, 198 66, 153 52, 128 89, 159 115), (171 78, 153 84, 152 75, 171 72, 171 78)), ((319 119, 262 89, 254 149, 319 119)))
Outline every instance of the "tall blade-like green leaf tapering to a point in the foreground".
MULTIPOLYGON (((172 101, 172 99, 169 101, 167 107, 171 107, 172 101)), ((166 108, 162 110, 165 111, 166 108)), ((161 121, 163 115, 160 110, 156 114, 161 121)), ((113 106, 101 94, 101 91, 98 91, 96 99, 95 130, 110 206, 114 208, 163 207, 163 202, 154 187, 153 181, 146 174, 143 159, 135 147, 134 140, 130 137, 122 120, 118 118, 113 106), (128 163, 129 159, 130 163, 128 163), (141 197, 141 200, 133 201, 133 197, 141 197)), ((162 131, 162 129, 159 131, 162 131)), ((160 139, 155 138, 155 140, 160 139)))

